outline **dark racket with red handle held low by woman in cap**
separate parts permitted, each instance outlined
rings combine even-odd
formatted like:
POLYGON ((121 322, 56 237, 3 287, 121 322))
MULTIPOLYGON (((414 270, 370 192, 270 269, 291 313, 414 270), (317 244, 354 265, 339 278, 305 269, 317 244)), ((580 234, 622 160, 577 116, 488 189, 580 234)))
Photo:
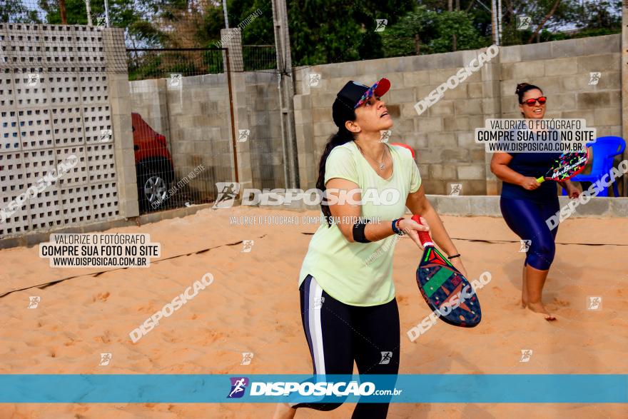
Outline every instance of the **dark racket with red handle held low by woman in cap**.
MULTIPOLYGON (((419 216, 412 216, 412 220, 422 224, 419 216)), ((482 310, 473 287, 436 248, 430 233, 419 231, 419 239, 424 251, 417 268, 417 285, 427 306, 445 323, 463 328, 477 326, 482 310)))

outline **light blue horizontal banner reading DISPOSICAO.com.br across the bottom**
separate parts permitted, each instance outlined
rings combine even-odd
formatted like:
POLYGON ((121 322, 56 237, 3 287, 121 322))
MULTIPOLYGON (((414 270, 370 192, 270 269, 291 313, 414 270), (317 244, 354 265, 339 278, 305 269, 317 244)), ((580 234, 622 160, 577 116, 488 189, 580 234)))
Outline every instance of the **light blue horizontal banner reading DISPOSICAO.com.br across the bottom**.
POLYGON ((628 375, 6 374, 0 403, 628 403, 628 375))

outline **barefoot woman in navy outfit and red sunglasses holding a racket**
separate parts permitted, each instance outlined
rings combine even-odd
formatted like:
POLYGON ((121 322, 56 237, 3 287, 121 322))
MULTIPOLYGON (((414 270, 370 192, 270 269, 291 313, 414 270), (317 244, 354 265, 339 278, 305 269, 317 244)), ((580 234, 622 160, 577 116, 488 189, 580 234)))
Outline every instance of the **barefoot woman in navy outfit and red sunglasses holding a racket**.
MULTIPOLYGON (((524 118, 542 119, 547 98, 532 84, 521 83, 515 91, 524 118)), ((547 218, 559 211, 556 184, 537 182, 550 169, 560 153, 495 153, 491 171, 502 180, 500 208, 508 227, 522 240, 530 241, 523 266, 521 305, 545 320, 556 318, 543 306, 542 291, 547 273, 554 260, 557 228, 550 230, 547 218)), ((579 196, 579 189, 571 181, 559 182, 571 198, 579 196)))

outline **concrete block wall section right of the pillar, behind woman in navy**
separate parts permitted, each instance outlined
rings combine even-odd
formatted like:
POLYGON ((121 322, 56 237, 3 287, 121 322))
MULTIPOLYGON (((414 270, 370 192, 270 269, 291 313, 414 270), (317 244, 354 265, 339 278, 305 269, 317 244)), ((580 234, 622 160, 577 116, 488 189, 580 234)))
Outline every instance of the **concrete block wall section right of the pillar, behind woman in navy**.
MULTIPOLYGON (((543 89, 547 118, 584 118, 597 136, 622 136, 621 41, 620 35, 608 35, 502 49, 502 118, 520 117, 513 98, 525 81, 543 89), (601 74, 597 84, 592 72, 601 74)), ((500 182, 492 176, 487 184, 492 192, 500 182)))

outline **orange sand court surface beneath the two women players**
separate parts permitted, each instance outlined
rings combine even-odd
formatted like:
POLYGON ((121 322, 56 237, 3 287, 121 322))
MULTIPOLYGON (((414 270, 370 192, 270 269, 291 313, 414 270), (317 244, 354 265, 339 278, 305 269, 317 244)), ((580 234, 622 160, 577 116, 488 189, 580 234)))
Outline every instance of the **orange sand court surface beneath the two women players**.
MULTIPOLYGON (((37 246, 0 251, 0 363, 4 374, 282 374, 311 372, 300 320, 300 264, 315 223, 244 226, 230 217, 315 217, 317 211, 236 207, 106 233, 149 233, 161 257, 149 268, 50 268, 37 246), (253 241, 245 246, 244 241, 253 241), (248 248, 249 251, 245 251, 248 248), (28 261, 28 263, 25 263, 28 261), (136 343, 129 333, 195 281, 211 273, 181 308, 136 343), (65 281, 41 286, 59 279, 65 281), (40 288, 29 288, 40 286, 40 288), (24 291, 14 291, 28 288, 24 291), (14 291, 14 292, 11 292, 14 291), (39 297, 36 308, 29 298, 39 297), (110 353, 108 365, 101 353, 110 353), (243 353, 252 353, 243 364, 243 353)), ((501 218, 442 216, 471 278, 489 271, 478 296, 477 328, 438 322, 410 341, 406 332, 430 313, 415 283, 420 251, 395 248, 394 275, 404 374, 628 373, 628 220, 577 218, 559 226, 545 303, 547 323, 520 308, 525 253, 501 218), (589 298, 602 297, 597 310, 589 298), (522 362, 522 350, 531 350, 522 362)), ((356 371, 357 373, 357 371, 356 371)), ((417 389, 420 390, 420 389, 417 389)), ((0 418, 266 418, 259 404, 3 404, 0 418)), ((525 404, 399 404, 389 418, 524 418, 525 404)), ((539 418, 625 418, 619 404, 534 404, 539 418)), ((347 418, 353 405, 297 418, 347 418)))

